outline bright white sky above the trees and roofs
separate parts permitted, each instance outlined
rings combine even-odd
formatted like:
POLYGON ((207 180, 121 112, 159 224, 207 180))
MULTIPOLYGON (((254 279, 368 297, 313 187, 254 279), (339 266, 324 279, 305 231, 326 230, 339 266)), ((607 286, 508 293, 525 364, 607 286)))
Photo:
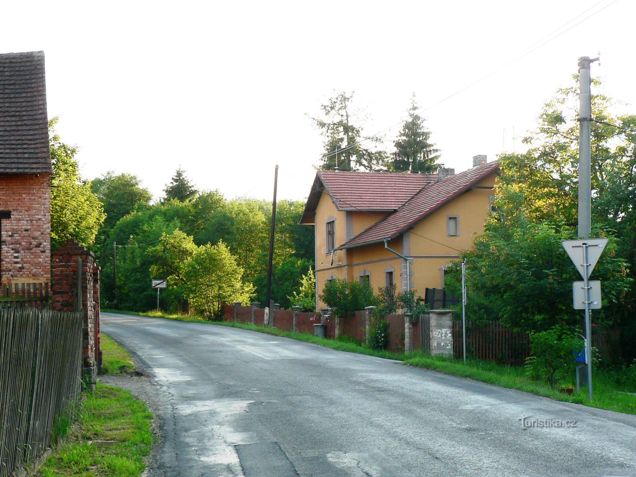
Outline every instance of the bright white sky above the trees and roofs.
POLYGON ((636 2, 612 2, 13 2, 0 52, 45 51, 49 116, 88 179, 130 172, 158 197, 181 165, 201 190, 270 199, 279 163, 279 198, 304 199, 322 153, 305 113, 332 88, 355 90, 388 145, 412 92, 431 106, 592 6, 572 24, 609 5, 425 111, 432 140, 458 172, 512 150, 599 51, 592 75, 635 104, 636 2))

